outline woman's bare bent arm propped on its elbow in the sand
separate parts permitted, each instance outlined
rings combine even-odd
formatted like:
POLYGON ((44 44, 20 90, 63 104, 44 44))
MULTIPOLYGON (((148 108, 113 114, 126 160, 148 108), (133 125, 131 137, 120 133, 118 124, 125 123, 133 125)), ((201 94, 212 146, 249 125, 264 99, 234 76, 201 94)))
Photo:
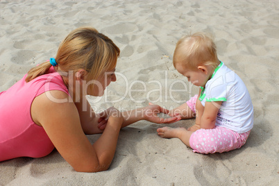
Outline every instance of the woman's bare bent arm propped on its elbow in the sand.
POLYGON ((56 99, 68 99, 55 103, 46 94, 37 96, 31 106, 31 115, 42 126, 63 158, 76 171, 96 172, 108 169, 117 146, 119 130, 123 122, 121 113, 115 109, 101 137, 92 145, 83 133, 76 105, 65 92, 50 91, 56 99))

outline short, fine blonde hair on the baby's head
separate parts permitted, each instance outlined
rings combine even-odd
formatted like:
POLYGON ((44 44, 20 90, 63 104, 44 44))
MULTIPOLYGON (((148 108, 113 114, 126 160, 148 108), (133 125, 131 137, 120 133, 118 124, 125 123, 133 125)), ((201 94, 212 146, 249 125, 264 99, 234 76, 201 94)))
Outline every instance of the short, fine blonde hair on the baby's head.
POLYGON ((183 62, 189 69, 196 69, 198 65, 208 65, 215 69, 219 60, 212 37, 205 33, 181 37, 174 51, 174 67, 178 62, 183 62))

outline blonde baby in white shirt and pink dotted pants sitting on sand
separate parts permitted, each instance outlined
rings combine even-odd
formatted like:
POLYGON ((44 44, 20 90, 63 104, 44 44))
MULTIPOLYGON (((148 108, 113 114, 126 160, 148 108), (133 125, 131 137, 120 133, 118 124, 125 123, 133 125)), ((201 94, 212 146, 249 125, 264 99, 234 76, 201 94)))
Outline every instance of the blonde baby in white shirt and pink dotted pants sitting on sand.
POLYGON ((251 97, 241 78, 217 58, 211 37, 205 33, 182 37, 174 51, 174 67, 200 89, 169 115, 196 116, 196 124, 187 130, 158 128, 158 135, 178 137, 196 153, 222 153, 243 146, 253 128, 251 97))

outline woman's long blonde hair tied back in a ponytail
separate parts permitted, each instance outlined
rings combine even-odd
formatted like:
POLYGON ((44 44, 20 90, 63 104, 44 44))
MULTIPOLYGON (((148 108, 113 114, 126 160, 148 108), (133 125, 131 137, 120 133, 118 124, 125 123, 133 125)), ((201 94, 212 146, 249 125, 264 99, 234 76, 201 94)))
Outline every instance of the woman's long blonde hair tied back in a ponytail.
MULTIPOLYGON (((119 48, 112 40, 95 28, 77 28, 60 44, 55 58, 58 66, 54 68, 56 71, 74 72, 85 69, 88 72, 87 80, 95 80, 103 71, 115 68, 119 53, 119 48)), ((49 61, 33 67, 28 71, 25 81, 28 83, 46 74, 50 67, 49 61)))

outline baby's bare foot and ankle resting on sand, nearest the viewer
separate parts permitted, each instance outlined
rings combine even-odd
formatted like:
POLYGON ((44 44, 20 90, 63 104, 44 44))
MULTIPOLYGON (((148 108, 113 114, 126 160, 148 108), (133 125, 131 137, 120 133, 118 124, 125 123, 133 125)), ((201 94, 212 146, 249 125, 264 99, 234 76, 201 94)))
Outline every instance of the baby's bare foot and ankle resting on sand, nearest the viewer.
POLYGON ((186 144, 187 146, 191 147, 189 145, 189 139, 190 139, 192 133, 194 133, 193 131, 188 131, 185 128, 170 128, 168 126, 165 126, 163 128, 158 128, 157 132, 158 132, 158 135, 160 137, 164 137, 164 138, 177 137, 184 144, 186 144))

